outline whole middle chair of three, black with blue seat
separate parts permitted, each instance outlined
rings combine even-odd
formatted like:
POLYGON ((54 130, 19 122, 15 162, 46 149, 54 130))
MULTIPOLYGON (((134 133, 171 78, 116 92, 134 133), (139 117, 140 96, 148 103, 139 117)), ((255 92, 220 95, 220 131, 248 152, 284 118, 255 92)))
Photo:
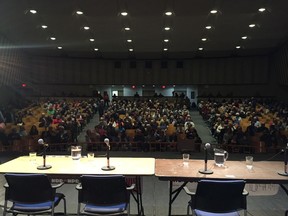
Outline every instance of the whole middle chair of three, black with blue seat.
POLYGON ((134 187, 127 188, 122 175, 83 175, 76 186, 77 215, 130 215, 130 190, 134 187))

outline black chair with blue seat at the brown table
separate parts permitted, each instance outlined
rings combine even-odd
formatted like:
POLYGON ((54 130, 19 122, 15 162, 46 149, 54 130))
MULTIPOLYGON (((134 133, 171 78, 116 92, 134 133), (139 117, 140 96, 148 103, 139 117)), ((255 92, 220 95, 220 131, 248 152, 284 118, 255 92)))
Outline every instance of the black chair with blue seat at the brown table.
POLYGON ((189 209, 196 216, 239 216, 238 211, 244 210, 246 215, 247 195, 244 180, 200 180, 196 192, 184 187, 190 195, 189 209))

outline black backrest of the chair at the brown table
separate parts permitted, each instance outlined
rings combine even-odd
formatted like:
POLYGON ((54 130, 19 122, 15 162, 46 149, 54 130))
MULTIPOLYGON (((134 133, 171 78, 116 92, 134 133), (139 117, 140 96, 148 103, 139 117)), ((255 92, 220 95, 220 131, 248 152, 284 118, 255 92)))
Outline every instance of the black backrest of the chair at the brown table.
POLYGON ((198 182, 192 209, 224 213, 246 209, 244 180, 201 180, 198 182))

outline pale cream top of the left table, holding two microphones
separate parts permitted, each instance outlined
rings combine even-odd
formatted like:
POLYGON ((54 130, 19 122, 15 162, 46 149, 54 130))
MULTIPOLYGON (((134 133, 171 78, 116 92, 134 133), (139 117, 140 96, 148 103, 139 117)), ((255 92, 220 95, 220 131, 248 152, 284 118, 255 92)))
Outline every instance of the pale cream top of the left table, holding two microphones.
POLYGON ((70 156, 47 156, 46 165, 52 168, 38 170, 43 165, 43 157, 37 156, 31 161, 29 156, 18 157, 0 165, 0 173, 45 173, 47 175, 84 175, 84 174, 122 174, 122 175, 154 175, 155 158, 119 158, 110 157, 110 166, 115 170, 103 171, 107 165, 106 157, 88 159, 82 157, 73 160, 70 156))

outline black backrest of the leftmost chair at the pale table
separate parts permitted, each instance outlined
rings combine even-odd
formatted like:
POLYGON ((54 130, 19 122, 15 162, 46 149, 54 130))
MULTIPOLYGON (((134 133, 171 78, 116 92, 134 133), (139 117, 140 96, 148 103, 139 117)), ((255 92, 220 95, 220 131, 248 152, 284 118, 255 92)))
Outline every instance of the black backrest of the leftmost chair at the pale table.
POLYGON ((45 174, 5 174, 5 199, 18 203, 53 201, 55 190, 45 174))

